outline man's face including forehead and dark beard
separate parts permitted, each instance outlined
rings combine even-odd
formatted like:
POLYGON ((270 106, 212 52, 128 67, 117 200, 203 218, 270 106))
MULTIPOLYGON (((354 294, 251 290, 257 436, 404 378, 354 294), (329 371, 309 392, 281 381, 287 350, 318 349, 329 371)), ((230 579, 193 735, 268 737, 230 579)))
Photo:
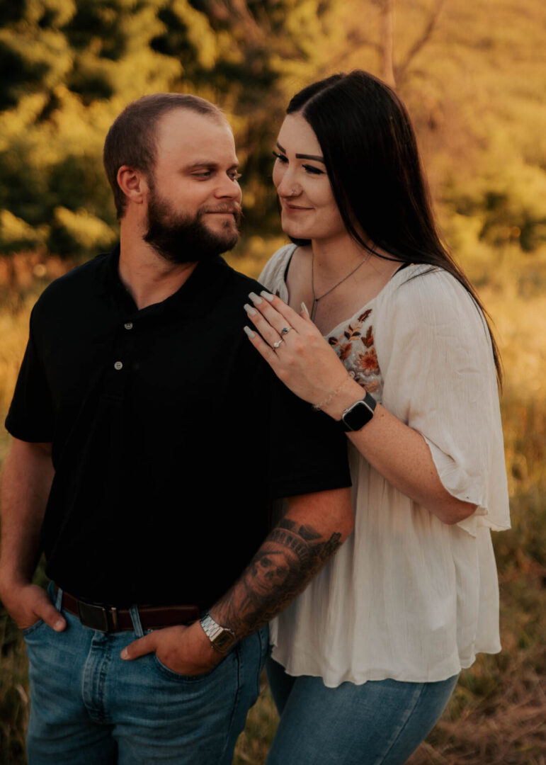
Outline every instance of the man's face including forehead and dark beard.
POLYGON ((229 126, 176 109, 158 123, 157 143, 145 242, 171 262, 232 249, 239 239, 241 189, 229 126))

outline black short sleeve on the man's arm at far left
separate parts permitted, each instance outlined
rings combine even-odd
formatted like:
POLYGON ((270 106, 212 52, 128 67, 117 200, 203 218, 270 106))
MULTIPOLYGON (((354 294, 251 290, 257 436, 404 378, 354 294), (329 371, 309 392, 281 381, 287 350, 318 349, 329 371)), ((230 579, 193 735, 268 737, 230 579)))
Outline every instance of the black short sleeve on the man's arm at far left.
POLYGON ((44 362, 37 348, 34 325, 36 308, 31 314, 30 332, 23 363, 5 427, 21 441, 50 443, 53 441, 54 410, 47 384, 44 362))

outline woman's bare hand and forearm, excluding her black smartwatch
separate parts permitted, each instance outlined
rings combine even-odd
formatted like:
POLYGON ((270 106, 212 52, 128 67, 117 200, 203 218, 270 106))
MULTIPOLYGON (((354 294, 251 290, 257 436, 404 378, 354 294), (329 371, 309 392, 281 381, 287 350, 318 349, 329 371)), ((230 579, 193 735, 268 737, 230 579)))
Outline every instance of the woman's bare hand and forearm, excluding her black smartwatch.
MULTIPOLYGON (((349 377, 307 311, 298 315, 281 298, 265 291, 261 294, 265 299, 250 294, 254 309, 245 305, 259 332, 249 334, 251 330, 245 327, 250 342, 296 396, 314 405, 323 404, 320 409, 339 420, 344 409, 362 399, 362 388, 349 377), (283 327, 291 329, 283 333, 283 327)), ((375 407, 375 414, 367 425, 347 435, 389 483, 442 522, 457 523, 476 509, 476 505, 457 500, 447 492, 423 436, 381 404, 375 407)))

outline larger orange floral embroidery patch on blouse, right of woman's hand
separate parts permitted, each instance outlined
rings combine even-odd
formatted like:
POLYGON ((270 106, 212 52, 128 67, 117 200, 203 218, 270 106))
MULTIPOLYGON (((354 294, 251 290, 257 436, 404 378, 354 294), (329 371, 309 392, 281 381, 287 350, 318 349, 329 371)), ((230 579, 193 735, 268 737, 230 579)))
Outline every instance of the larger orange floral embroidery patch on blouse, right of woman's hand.
POLYGON ((364 324, 369 320, 372 309, 360 314, 356 321, 349 324, 340 337, 329 337, 328 342, 362 388, 369 393, 379 388, 381 369, 373 345, 373 327, 364 324))

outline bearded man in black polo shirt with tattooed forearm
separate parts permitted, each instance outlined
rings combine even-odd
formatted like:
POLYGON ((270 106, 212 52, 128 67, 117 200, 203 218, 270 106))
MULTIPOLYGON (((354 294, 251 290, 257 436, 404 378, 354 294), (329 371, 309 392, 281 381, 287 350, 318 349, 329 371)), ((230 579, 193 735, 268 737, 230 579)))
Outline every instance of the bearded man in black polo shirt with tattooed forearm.
POLYGON ((241 200, 222 113, 145 96, 104 159, 120 247, 44 291, 6 421, 0 596, 27 641, 29 765, 229 763, 260 627, 352 529, 346 447, 242 333, 260 286, 218 257, 241 200))

